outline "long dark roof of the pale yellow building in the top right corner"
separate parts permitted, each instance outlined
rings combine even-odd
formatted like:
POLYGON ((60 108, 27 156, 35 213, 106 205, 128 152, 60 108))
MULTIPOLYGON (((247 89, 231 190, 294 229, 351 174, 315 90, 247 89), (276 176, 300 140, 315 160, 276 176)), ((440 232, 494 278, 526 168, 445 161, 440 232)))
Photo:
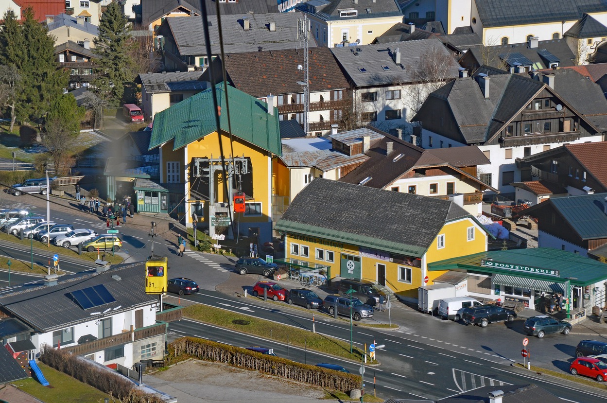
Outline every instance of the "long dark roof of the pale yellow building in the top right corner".
POLYGON ((583 13, 605 12, 603 0, 475 0, 483 27, 540 24, 541 22, 572 21, 583 13))

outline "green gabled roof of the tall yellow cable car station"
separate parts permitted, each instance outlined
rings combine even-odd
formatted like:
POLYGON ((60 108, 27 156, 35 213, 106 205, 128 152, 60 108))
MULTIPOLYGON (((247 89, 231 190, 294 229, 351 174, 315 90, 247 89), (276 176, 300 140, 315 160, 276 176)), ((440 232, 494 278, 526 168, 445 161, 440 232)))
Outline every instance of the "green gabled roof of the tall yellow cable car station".
MULTIPOLYGON (((267 104, 247 93, 228 86, 230 123, 232 135, 255 144, 275 155, 282 155, 278 113, 268 113, 267 104)), ((185 147, 216 131, 215 108, 212 89, 175 104, 169 109, 156 113, 149 149, 166 141, 175 140, 173 149, 185 147)), ((215 86, 217 101, 221 109, 220 127, 228 133, 228 110, 226 91, 223 83, 215 86)))

